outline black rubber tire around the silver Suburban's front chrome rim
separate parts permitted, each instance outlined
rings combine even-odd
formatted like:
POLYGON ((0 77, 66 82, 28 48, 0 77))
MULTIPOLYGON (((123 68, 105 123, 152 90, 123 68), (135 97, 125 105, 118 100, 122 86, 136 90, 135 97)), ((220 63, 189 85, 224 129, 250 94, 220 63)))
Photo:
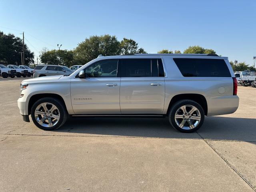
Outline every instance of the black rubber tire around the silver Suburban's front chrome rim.
POLYGON ((64 103, 62 103, 60 100, 58 100, 58 99, 56 99, 56 98, 46 97, 46 98, 39 99, 38 101, 36 101, 36 102, 33 104, 32 108, 31 108, 31 118, 32 118, 34 124, 35 124, 38 128, 40 128, 40 129, 42 129, 42 130, 47 130, 47 131, 49 131, 49 130, 56 130, 56 129, 60 128, 60 127, 66 122, 66 120, 67 120, 67 118, 68 118, 68 112, 67 112, 67 110, 66 110, 66 108, 65 108, 64 103), (46 103, 46 102, 47 102, 47 103, 54 104, 54 105, 58 108, 58 110, 59 110, 59 112, 60 112, 60 114, 59 114, 59 115, 60 115, 60 119, 59 119, 58 122, 57 122, 54 126, 52 126, 52 127, 44 127, 44 126, 41 126, 41 125, 36 121, 36 117, 35 117, 35 110, 36 110, 36 107, 37 107, 38 105, 40 105, 40 104, 42 104, 42 103, 46 103))

